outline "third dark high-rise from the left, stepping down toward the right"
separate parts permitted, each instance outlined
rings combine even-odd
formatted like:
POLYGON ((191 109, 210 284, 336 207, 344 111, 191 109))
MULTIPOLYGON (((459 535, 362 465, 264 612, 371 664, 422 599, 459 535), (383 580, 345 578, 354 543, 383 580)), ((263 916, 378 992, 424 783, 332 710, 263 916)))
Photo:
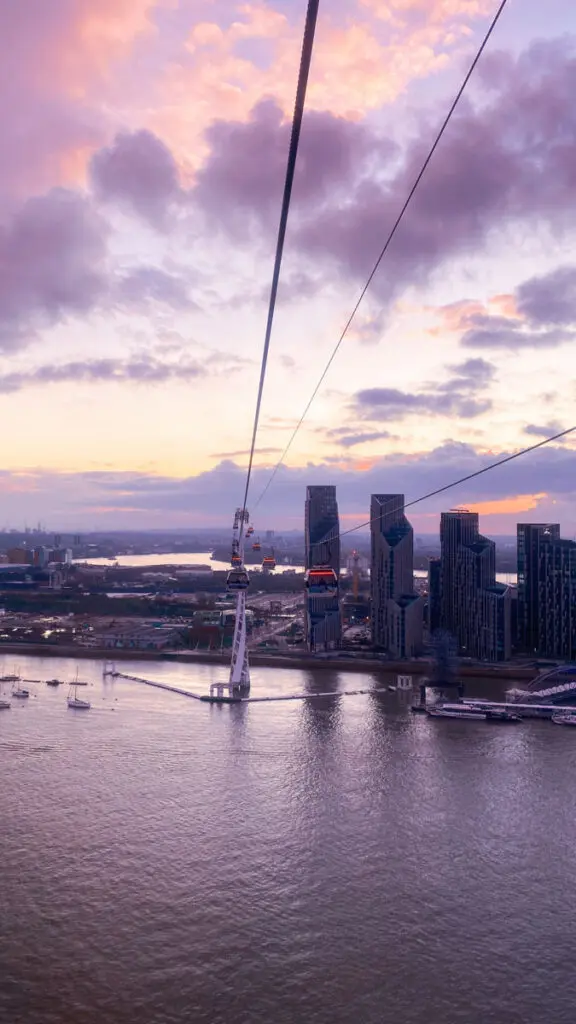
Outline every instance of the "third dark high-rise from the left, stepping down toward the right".
POLYGON ((440 544, 441 628, 470 657, 507 659, 510 593, 496 583, 496 546, 480 532, 478 512, 443 512, 440 544))

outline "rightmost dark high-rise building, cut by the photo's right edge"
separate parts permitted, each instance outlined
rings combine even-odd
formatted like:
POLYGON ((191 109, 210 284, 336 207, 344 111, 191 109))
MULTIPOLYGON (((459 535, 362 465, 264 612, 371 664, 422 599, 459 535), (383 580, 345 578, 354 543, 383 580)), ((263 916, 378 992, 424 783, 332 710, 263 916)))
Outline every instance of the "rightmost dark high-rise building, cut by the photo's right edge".
POLYGON ((576 543, 559 523, 519 523, 520 646, 544 657, 576 657, 576 543))

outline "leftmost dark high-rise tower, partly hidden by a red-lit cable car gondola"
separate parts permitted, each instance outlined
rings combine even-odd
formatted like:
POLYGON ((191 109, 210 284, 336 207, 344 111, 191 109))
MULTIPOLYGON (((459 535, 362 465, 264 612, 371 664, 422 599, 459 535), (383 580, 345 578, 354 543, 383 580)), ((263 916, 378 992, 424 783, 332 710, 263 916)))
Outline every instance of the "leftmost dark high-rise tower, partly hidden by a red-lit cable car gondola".
MULTIPOLYGON (((340 574, 340 524, 336 488, 332 484, 306 487, 304 509, 306 569, 330 565, 340 574)), ((339 646, 342 629, 338 595, 306 595, 306 639, 311 650, 339 646)))

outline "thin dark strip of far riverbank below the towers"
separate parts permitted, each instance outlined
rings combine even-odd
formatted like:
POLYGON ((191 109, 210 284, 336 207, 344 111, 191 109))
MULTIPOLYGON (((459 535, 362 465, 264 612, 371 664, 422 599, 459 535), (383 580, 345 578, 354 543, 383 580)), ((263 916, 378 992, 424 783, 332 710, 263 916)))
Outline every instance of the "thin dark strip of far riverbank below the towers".
MULTIPOLYGON (((74 644, 29 644, 6 643, 0 645, 0 653, 28 654, 32 657, 84 658, 96 662, 178 662, 184 665, 228 665, 230 651, 157 651, 137 650, 122 647, 77 647, 74 644)), ((250 664, 254 667, 272 669, 315 669, 320 671, 378 673, 406 673, 413 676, 427 675, 430 664, 424 660, 382 662, 379 658, 329 657, 315 658, 301 652, 295 655, 270 654, 259 651, 249 652, 250 664)), ((526 680, 534 679, 538 670, 532 666, 503 665, 461 665, 458 674, 477 679, 526 680)))

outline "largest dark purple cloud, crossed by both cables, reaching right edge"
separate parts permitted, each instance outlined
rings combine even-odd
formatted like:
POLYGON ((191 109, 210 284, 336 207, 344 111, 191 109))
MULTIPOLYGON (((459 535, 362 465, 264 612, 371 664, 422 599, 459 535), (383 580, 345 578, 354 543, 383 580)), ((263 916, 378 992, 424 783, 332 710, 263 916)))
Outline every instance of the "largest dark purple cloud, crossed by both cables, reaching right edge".
MULTIPOLYGON (((574 223, 576 59, 570 39, 538 43, 518 57, 494 54, 475 105, 455 115, 398 232, 385 274, 386 300, 424 282, 444 262, 478 253, 495 228, 524 221, 564 231, 574 223)), ((329 114, 306 117, 296 175, 291 251, 325 270, 364 280, 423 162, 435 123, 399 158, 367 125, 329 114), (305 145, 314 152, 306 161, 305 145), (338 159, 335 159, 335 155, 338 159), (394 158, 394 159, 393 159, 394 158)), ((287 128, 274 105, 247 124, 220 123, 194 196, 224 230, 276 228, 287 128)), ((305 265, 305 264, 304 264, 305 265)))

